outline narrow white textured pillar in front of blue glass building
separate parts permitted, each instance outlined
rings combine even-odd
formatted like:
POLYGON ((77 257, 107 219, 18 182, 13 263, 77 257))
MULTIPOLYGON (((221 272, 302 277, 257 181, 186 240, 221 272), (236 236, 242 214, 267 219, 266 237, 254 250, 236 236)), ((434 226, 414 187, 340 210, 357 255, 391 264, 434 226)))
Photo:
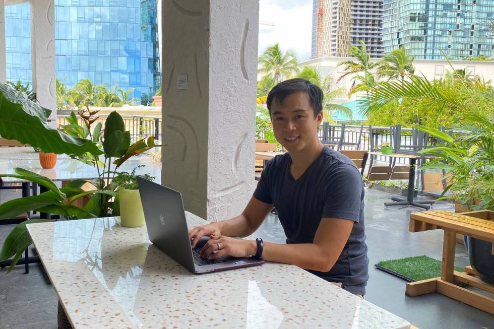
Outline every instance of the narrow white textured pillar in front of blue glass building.
POLYGON ((50 109, 56 122, 55 2, 31 0, 31 59, 33 90, 39 103, 50 109))

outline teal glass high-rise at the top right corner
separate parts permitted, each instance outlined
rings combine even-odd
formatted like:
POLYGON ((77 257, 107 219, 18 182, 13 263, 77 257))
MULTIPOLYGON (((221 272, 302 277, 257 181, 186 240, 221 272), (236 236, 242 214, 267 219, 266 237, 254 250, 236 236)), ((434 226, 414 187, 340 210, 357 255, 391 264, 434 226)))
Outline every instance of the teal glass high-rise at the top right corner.
POLYGON ((405 47, 417 59, 492 56, 482 22, 494 18, 494 0, 384 0, 384 52, 405 47), (440 49, 441 48, 441 49, 440 49))

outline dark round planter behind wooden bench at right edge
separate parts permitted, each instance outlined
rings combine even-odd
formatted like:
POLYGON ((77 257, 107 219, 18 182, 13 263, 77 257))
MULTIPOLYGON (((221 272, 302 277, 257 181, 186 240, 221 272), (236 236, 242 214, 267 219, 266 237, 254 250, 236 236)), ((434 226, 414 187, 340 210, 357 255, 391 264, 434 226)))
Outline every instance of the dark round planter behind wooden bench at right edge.
POLYGON ((494 255, 492 252, 492 242, 472 238, 467 238, 468 257, 470 265, 480 275, 480 280, 490 285, 494 285, 494 255))

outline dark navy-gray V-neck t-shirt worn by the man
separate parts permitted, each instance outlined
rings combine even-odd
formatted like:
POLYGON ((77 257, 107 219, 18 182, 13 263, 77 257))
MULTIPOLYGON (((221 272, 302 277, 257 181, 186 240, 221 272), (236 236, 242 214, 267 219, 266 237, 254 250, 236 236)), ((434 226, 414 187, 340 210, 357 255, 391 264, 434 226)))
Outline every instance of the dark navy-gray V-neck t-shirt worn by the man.
POLYGON ((342 283, 353 294, 365 294, 368 276, 362 177, 353 162, 325 146, 319 157, 295 180, 288 153, 269 160, 254 197, 273 204, 287 237, 286 243, 313 243, 322 218, 354 221, 350 237, 329 272, 309 271, 342 283))

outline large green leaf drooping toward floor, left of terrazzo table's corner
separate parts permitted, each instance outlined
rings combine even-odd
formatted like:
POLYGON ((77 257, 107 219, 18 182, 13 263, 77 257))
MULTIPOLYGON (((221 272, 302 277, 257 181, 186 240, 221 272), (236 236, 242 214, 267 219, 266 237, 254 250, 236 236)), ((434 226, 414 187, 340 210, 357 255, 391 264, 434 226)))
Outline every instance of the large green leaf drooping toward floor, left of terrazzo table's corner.
POLYGON ((4 245, 2 246, 2 250, 0 250, 0 261, 4 261, 14 256, 11 261, 11 265, 7 273, 14 269, 14 266, 17 264, 17 261, 21 257, 24 250, 32 243, 31 237, 26 229, 26 224, 34 224, 34 223, 46 223, 50 222, 47 219, 31 219, 29 221, 22 222, 18 224, 12 232, 9 233, 7 238, 5 239, 4 245))

